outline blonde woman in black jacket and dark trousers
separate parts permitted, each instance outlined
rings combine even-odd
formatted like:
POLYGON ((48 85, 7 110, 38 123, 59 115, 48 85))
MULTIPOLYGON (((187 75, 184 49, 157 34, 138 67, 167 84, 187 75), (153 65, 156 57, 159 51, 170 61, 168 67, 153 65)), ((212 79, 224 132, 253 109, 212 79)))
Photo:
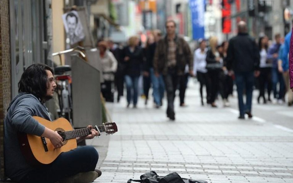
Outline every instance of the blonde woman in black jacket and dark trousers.
POLYGON ((212 107, 217 107, 215 104, 216 95, 219 90, 219 74, 223 67, 223 58, 217 50, 218 38, 210 37, 210 48, 206 52, 206 69, 208 70, 209 84, 210 84, 210 104, 212 107))

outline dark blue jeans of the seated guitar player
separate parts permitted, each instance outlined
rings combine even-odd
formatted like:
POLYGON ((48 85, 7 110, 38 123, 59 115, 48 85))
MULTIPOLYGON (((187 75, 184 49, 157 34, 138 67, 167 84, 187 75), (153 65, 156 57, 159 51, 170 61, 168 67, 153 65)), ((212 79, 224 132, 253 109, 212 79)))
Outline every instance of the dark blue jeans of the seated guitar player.
POLYGON ((54 183, 81 172, 95 171, 99 154, 92 146, 62 152, 51 164, 28 173, 21 183, 54 183))

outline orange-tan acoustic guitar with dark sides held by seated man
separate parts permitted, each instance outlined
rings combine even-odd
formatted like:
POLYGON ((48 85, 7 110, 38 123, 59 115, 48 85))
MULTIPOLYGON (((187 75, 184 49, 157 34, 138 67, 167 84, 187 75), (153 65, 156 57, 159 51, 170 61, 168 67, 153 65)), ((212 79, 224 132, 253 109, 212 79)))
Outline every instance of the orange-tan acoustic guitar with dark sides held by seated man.
POLYGON ((45 127, 57 131, 63 139, 63 146, 55 149, 48 138, 26 133, 18 133, 21 152, 27 159, 28 163, 34 166, 50 164, 60 153, 77 148, 75 138, 90 135, 91 129, 96 129, 96 131, 99 132, 106 132, 107 134, 113 134, 118 131, 116 123, 103 123, 101 126, 73 130, 71 124, 65 118, 59 118, 53 122, 37 116, 33 116, 33 118, 45 127))

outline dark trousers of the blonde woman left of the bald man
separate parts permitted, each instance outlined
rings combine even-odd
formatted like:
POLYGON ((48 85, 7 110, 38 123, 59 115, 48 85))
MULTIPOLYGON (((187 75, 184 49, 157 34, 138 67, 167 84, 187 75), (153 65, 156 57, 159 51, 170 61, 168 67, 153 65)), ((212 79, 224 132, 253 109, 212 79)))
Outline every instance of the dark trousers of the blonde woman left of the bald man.
POLYGON ((219 91, 219 74, 220 70, 214 69, 214 70, 208 70, 209 75, 209 84, 210 84, 210 103, 215 102, 218 91, 219 91))

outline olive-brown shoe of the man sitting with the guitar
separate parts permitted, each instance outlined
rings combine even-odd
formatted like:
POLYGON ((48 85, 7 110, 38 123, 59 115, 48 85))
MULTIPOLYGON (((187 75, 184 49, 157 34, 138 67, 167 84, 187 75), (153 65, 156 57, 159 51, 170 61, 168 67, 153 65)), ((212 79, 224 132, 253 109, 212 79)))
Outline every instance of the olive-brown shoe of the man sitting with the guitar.
POLYGON ((81 172, 76 175, 66 177, 59 181, 59 183, 90 183, 96 180, 98 177, 99 175, 96 171, 81 172))

